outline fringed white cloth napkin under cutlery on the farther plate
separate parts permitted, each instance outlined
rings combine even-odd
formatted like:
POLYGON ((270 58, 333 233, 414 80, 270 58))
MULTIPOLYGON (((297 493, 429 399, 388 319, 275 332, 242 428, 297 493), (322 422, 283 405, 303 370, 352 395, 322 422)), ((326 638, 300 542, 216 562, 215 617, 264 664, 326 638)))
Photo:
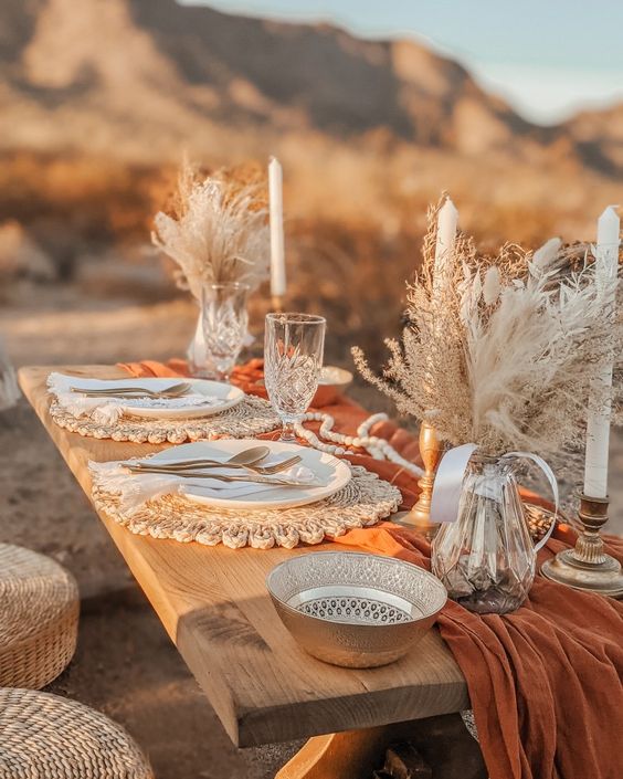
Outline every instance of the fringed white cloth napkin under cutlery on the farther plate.
MULTIPOLYGON (((178 385, 181 379, 150 379, 142 383, 140 379, 133 379, 133 387, 145 387, 154 391, 162 391, 178 385)), ((116 389, 127 386, 126 380, 85 379, 64 373, 50 373, 47 377, 47 391, 51 392, 62 408, 73 417, 91 417, 97 424, 114 424, 125 413, 136 412, 139 409, 186 409, 188 407, 212 407, 221 401, 211 396, 191 393, 181 398, 88 398, 80 392, 72 392, 72 387, 80 389, 116 389)))

